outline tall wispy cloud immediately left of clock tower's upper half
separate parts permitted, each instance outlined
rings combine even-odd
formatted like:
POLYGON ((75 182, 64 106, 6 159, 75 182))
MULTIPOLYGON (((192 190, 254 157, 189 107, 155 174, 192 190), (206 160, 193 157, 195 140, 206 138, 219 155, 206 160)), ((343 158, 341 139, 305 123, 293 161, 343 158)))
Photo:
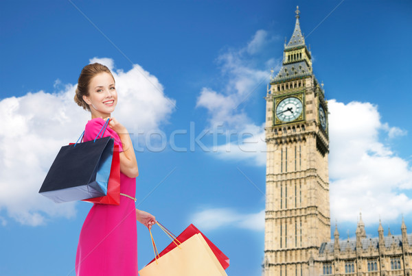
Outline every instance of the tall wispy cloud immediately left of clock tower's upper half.
MULTIPOLYGON (((258 88, 268 81, 269 71, 253 68, 253 58, 248 54, 257 53, 268 45, 268 34, 258 30, 251 41, 241 49, 229 49, 218 57, 222 75, 227 77, 227 85, 221 92, 211 88, 203 88, 196 102, 197 108, 206 108, 209 123, 212 127, 222 125, 227 133, 238 139, 229 140, 225 145, 217 147, 216 157, 225 160, 249 160, 253 164, 263 165, 266 162, 266 144, 264 142, 264 125, 255 125, 246 112, 243 103, 247 102, 258 88)), ((275 64, 275 60, 266 62, 267 66, 275 64)), ((279 66, 279 64, 277 65, 279 66)))

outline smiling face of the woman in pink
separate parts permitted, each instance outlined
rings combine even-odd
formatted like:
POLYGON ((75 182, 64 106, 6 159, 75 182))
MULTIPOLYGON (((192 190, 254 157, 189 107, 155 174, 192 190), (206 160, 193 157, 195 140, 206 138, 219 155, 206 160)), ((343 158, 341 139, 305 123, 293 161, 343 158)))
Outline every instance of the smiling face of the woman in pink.
POLYGON ((91 118, 111 116, 117 104, 115 80, 106 72, 95 75, 89 84, 89 96, 83 99, 90 107, 91 118))

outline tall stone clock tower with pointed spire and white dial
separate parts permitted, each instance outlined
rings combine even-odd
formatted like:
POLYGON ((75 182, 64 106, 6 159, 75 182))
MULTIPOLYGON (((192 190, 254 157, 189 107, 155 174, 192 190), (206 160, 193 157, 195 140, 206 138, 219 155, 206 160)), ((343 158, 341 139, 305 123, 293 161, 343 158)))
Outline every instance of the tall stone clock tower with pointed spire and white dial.
POLYGON ((328 102, 296 24, 266 99, 265 276, 320 275, 330 241, 328 102))

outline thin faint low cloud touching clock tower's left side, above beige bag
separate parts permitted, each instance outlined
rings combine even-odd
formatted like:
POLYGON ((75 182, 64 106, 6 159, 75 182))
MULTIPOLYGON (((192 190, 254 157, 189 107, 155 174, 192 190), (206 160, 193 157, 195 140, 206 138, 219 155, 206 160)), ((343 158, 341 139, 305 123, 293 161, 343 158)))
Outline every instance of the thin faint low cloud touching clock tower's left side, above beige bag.
POLYGON ((252 214, 240 214, 230 208, 213 208, 194 214, 190 221, 205 230, 220 227, 237 227, 254 231, 264 230, 264 210, 252 214))

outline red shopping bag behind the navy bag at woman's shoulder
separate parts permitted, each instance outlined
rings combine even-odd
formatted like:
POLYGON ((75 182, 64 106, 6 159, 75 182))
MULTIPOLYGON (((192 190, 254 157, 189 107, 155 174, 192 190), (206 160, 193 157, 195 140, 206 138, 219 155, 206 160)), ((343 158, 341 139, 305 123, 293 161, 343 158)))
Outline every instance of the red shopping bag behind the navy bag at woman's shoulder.
POLYGON ((107 183, 107 195, 104 197, 93 197, 93 199, 84 199, 90 203, 100 204, 120 204, 120 156, 119 145, 115 145, 113 148, 113 160, 111 164, 110 176, 107 183))

